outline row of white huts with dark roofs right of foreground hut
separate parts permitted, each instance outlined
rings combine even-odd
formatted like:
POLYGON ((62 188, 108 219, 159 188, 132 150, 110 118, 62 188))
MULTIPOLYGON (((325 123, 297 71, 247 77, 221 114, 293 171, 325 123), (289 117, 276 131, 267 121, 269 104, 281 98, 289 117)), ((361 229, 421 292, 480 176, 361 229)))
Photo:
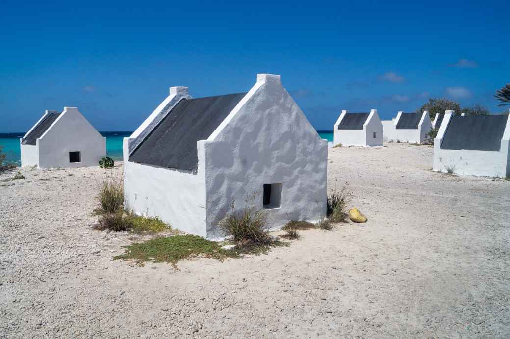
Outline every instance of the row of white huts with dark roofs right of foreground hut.
POLYGON ((431 121, 427 111, 398 112, 394 119, 381 121, 375 109, 370 113, 342 111, 334 126, 333 145, 381 146, 382 140, 422 143, 432 128, 439 129, 433 171, 510 176, 510 114, 466 116, 445 111, 431 121))

